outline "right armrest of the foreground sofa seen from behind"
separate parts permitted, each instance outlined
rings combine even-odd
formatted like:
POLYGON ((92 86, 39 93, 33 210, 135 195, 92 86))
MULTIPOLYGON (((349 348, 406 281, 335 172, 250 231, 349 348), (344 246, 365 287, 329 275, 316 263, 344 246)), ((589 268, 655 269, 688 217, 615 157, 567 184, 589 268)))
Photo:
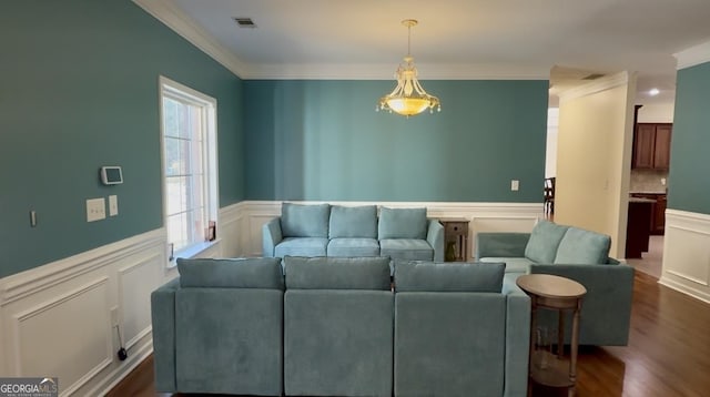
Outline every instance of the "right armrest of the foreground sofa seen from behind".
POLYGON ((530 297, 515 283, 517 275, 506 275, 503 294, 506 307, 506 383, 504 396, 525 396, 528 388, 530 355, 530 297))

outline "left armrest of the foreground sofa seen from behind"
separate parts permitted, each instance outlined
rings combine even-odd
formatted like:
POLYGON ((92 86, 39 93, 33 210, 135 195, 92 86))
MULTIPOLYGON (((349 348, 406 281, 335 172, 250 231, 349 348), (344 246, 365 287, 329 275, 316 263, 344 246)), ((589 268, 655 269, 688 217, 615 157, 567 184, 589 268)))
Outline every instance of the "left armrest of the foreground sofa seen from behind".
POLYGON ((175 377, 175 292, 180 277, 175 277, 151 294, 151 320, 153 325, 153 364, 155 390, 178 391, 175 377))

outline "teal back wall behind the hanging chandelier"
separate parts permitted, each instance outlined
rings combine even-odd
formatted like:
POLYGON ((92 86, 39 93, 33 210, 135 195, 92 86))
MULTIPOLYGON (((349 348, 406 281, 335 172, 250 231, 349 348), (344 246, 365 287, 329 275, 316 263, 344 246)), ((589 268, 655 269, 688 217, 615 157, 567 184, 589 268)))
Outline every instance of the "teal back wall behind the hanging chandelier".
POLYGON ((442 112, 405 119, 393 81, 244 81, 247 198, 541 201, 547 81, 423 85, 442 112))

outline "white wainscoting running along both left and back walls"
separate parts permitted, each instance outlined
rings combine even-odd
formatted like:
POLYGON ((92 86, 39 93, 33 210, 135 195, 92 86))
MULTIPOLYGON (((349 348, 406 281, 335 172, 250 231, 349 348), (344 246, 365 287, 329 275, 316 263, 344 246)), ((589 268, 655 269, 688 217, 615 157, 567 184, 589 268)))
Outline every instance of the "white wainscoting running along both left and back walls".
MULTIPOLYGON (((281 214, 281 204, 252 201, 221 208, 217 242, 199 256, 260 256, 262 226, 281 214)), ((475 233, 528 232, 542 216, 542 204, 332 204, 426 206, 430 217, 467 218, 469 248, 475 233)), ((178 275, 166 267, 165 240, 160 228, 0 279, 0 375, 57 376, 62 396, 110 390, 152 353, 150 294, 178 275), (116 357, 113 318, 129 353, 125 362, 116 357)))

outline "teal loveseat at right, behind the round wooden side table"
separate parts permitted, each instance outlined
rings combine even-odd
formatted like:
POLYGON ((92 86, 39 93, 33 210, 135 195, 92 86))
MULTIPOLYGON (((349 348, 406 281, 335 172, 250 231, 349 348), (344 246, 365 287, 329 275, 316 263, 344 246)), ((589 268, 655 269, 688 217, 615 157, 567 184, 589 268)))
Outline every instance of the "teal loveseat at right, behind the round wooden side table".
MULTIPOLYGON (((609 257, 608 235, 540 220, 531 233, 478 233, 476 261, 506 263, 508 283, 521 274, 552 274, 587 288, 579 344, 626 346, 629 339, 633 267, 609 257)), ((571 335, 566 319, 566 338, 571 335)), ((538 312, 538 325, 555 329, 557 313, 538 312)))

